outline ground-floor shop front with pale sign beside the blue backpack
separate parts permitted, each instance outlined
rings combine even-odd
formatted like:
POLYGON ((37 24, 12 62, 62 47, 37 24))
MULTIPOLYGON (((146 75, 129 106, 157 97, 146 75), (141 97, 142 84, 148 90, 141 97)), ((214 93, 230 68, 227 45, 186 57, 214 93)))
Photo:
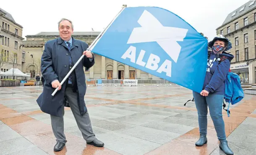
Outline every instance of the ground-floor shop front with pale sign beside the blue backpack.
POLYGON ((248 84, 249 83, 249 66, 248 62, 243 62, 239 64, 231 64, 230 70, 238 74, 240 76, 241 84, 248 84))

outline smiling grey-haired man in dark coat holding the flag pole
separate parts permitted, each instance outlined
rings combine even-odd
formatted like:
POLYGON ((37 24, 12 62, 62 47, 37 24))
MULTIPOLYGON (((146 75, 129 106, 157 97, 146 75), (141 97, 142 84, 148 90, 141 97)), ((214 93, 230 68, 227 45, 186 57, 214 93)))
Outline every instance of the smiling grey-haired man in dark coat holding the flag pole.
POLYGON ((51 115, 52 130, 57 141, 54 151, 62 150, 67 142, 63 122, 64 98, 67 99, 78 128, 87 144, 102 147, 104 143, 97 140, 92 131, 91 121, 84 102, 86 92, 84 67, 88 69, 94 65, 94 55, 91 51, 86 51, 88 44, 71 36, 73 24, 70 20, 64 18, 58 24, 60 38, 47 41, 44 45, 41 58, 41 71, 45 80, 44 89, 37 99, 41 110, 51 115), (85 55, 84 58, 61 86, 60 82, 82 54, 85 55), (58 88, 58 91, 52 97, 51 94, 55 88, 58 88))

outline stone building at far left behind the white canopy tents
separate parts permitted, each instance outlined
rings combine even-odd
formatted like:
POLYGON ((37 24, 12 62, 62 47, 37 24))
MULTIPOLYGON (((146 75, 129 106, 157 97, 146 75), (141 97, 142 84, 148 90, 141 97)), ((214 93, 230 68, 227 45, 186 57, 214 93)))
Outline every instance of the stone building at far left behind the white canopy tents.
MULTIPOLYGON (((0 69, 8 71, 17 68, 21 70, 24 58, 22 57, 22 29, 15 22, 12 15, 0 8, 0 69)), ((3 78, 3 77, 2 77, 3 78)))

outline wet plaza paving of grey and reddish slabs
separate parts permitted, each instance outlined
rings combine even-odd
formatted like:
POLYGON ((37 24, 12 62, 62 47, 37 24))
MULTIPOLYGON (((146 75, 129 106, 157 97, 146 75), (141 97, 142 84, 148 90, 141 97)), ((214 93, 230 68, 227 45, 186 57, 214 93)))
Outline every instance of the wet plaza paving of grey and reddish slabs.
MULTIPOLYGON (((196 147, 198 117, 192 92, 180 86, 87 87, 86 106, 96 137, 104 147, 86 145, 70 108, 65 108, 68 140, 56 143, 50 115, 36 99, 42 86, 0 87, 0 155, 224 155, 211 117, 208 143, 196 147)), ((223 110, 228 144, 235 155, 256 154, 256 96, 246 95, 223 110)), ((209 114, 209 113, 208 113, 209 114)))

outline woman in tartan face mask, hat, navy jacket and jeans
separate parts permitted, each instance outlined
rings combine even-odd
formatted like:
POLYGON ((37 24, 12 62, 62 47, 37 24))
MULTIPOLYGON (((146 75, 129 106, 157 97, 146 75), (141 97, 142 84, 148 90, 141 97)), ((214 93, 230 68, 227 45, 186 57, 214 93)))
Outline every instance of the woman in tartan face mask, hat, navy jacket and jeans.
POLYGON ((222 103, 225 93, 225 79, 230 69, 230 61, 234 58, 232 54, 225 51, 230 50, 232 45, 230 41, 222 35, 217 35, 212 41, 208 43, 212 48, 207 60, 206 76, 204 79, 204 86, 201 93, 193 91, 196 109, 198 111, 200 138, 196 142, 196 146, 203 146, 207 143, 207 105, 209 107, 210 115, 214 123, 217 137, 220 141, 219 148, 227 155, 234 153, 227 145, 225 124, 222 118, 222 103), (224 61, 223 58, 225 58, 224 61))

